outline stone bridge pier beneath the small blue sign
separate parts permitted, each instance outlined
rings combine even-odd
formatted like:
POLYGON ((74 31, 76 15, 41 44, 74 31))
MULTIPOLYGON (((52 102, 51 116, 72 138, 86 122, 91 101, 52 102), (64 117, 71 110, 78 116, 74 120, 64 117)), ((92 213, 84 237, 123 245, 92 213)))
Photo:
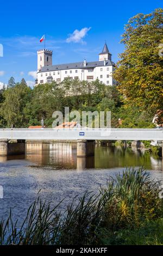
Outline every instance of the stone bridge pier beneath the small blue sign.
POLYGON ((95 141, 86 139, 78 139, 77 141, 77 156, 94 156, 95 141))

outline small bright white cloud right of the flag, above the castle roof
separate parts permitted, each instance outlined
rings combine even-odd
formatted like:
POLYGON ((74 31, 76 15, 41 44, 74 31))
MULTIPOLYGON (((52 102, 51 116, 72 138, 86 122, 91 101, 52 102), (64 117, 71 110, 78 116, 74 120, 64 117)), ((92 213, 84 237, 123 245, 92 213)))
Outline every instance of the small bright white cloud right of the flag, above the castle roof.
POLYGON ((70 36, 66 39, 66 42, 82 42, 84 43, 84 41, 82 40, 88 31, 90 31, 91 27, 89 28, 82 28, 80 31, 78 31, 78 29, 76 29, 72 34, 70 34, 70 36))

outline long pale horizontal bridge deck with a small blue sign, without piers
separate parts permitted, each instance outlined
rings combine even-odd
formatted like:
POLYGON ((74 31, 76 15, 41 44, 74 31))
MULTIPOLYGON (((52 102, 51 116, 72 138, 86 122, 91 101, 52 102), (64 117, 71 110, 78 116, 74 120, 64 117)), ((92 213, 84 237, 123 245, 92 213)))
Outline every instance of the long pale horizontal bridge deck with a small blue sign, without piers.
POLYGON ((0 139, 163 141, 161 129, 0 129, 0 139))

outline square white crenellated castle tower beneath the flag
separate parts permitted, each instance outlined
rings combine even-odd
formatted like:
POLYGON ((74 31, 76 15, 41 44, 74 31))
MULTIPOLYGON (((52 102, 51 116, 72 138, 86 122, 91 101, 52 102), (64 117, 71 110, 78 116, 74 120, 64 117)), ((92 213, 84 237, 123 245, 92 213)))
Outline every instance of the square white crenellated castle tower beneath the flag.
POLYGON ((52 54, 50 50, 39 50, 37 51, 37 70, 43 66, 52 66, 52 54))

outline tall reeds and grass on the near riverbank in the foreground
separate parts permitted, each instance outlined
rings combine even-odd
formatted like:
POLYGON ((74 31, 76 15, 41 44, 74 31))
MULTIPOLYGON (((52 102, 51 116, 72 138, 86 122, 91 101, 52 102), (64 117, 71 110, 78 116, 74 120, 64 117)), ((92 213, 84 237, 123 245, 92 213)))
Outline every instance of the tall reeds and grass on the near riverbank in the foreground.
POLYGON ((30 206, 21 227, 12 214, 0 222, 0 245, 162 244, 159 183, 142 168, 126 169, 98 194, 85 192, 61 214, 59 206, 30 206))

